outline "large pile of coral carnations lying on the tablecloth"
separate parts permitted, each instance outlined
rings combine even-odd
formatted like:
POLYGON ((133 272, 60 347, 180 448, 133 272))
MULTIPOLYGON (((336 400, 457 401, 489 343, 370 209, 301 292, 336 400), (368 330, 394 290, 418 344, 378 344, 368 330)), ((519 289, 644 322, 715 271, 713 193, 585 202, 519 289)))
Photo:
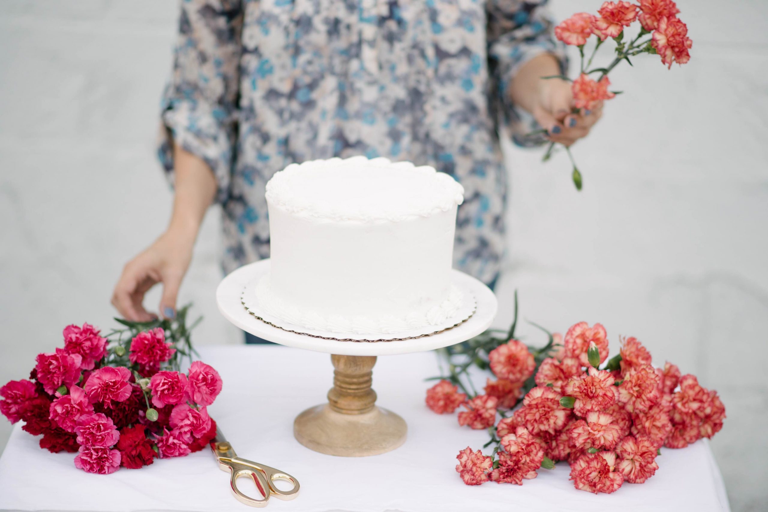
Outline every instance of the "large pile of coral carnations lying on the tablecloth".
MULTIPOLYGON (((662 447, 684 448, 723 428, 725 406, 717 392, 674 364, 657 368, 634 337, 608 358, 600 323, 576 323, 565 336, 548 334, 542 348, 489 330, 442 349, 449 372, 427 390, 426 404, 439 414, 458 412, 458 424, 487 429, 490 455, 467 447, 456 471, 467 485, 488 481, 522 484, 558 461, 571 466, 582 491, 612 493, 624 483, 654 476, 662 447), (490 369, 484 393, 467 375, 490 369)), ((538 327, 538 326, 536 326, 538 327)))

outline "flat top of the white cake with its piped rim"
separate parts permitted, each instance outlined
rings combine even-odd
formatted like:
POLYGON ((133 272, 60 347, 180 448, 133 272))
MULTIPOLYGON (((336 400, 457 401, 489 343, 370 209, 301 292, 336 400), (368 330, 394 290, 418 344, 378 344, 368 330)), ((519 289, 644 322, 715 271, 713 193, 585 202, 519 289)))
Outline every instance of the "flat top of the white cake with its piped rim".
POLYGON ((303 218, 400 222, 462 204, 464 188, 430 166, 353 156, 291 164, 266 184, 266 199, 303 218))

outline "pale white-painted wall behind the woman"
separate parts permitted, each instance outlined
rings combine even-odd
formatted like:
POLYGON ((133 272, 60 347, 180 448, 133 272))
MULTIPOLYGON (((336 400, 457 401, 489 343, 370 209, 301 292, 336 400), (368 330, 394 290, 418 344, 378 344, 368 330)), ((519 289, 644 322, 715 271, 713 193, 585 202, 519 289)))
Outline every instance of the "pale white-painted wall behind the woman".
MULTIPOLYGON (((554 0, 558 19, 599 0, 554 0)), ((768 491, 768 2, 679 0, 692 59, 612 74, 626 93, 567 159, 508 148, 509 258, 499 325, 587 320, 638 336, 717 389, 713 440, 733 510, 768 491)), ((154 159, 176 2, 0 3, 0 382, 26 376, 61 328, 111 325, 111 288, 164 229, 171 195, 154 159)), ((181 291, 195 339, 240 343, 214 304, 217 214, 181 291)), ((151 294, 149 304, 159 296, 151 294)), ((533 340, 535 330, 525 330, 533 340)), ((9 432, 0 422, 0 445, 9 432)))

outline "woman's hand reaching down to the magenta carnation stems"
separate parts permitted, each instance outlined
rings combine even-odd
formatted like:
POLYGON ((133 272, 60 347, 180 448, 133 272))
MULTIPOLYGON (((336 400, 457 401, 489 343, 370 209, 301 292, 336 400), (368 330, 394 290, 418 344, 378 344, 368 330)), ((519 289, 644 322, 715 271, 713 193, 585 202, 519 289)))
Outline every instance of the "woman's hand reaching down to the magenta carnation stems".
MULTIPOLYGON (((196 233, 195 233, 196 234, 196 233)), ((160 313, 166 318, 176 314, 176 297, 181 280, 192 259, 195 234, 169 229, 123 268, 112 293, 112 305, 126 319, 146 322, 157 318, 144 309, 144 294, 157 283, 163 284, 160 313)))

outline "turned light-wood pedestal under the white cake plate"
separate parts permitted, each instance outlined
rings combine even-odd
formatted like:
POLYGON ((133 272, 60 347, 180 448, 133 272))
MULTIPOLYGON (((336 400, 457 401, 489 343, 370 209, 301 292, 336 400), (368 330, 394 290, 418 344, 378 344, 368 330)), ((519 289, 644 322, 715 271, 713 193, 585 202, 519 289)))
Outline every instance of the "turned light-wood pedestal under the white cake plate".
POLYGON ((371 388, 376 356, 331 356, 333 388, 328 403, 293 422, 293 435, 310 450, 342 457, 379 455, 406 441, 408 426, 394 412, 376 406, 371 388))

